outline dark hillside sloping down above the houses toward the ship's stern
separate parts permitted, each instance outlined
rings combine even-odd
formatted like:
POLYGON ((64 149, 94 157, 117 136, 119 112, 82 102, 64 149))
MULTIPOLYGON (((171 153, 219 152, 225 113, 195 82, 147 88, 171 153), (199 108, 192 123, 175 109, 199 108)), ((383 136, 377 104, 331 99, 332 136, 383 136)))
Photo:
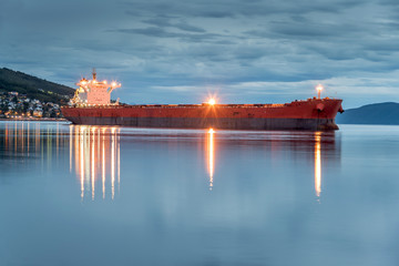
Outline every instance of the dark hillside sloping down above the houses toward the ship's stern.
POLYGON ((6 68, 0 69, 0 92, 18 92, 42 102, 61 104, 66 103, 74 94, 72 88, 6 68))

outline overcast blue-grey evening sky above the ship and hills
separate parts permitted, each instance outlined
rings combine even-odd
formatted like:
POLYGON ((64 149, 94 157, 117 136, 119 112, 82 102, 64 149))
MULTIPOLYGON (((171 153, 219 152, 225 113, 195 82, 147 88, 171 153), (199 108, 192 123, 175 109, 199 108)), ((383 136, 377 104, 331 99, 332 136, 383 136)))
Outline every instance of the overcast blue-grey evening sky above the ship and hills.
POLYGON ((0 0, 0 66, 127 103, 399 102, 398 0, 0 0))

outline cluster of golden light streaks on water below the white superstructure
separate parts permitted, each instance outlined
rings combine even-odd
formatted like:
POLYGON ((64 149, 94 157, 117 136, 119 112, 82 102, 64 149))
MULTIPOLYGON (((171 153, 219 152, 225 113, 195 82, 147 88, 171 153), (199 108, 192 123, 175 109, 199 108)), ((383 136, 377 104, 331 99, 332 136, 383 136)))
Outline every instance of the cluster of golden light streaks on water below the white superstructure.
POLYGON ((119 127, 70 125, 70 171, 80 180, 82 200, 94 200, 95 193, 105 198, 109 191, 114 200, 121 185, 120 154, 119 127))

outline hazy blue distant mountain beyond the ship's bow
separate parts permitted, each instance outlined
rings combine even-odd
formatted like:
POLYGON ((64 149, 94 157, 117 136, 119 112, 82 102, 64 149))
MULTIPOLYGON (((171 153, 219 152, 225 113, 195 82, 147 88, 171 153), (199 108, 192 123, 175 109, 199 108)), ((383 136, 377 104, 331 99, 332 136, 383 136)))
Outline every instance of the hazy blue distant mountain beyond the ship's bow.
POLYGON ((337 124, 399 124, 399 103, 386 102, 345 110, 336 116, 337 124))

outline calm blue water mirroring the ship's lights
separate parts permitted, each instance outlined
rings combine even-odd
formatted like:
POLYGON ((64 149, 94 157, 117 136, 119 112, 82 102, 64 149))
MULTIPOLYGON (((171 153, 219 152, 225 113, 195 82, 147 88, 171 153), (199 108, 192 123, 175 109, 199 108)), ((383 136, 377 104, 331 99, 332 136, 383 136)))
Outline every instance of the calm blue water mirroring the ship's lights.
POLYGON ((398 265, 399 126, 0 122, 0 265, 398 265))

